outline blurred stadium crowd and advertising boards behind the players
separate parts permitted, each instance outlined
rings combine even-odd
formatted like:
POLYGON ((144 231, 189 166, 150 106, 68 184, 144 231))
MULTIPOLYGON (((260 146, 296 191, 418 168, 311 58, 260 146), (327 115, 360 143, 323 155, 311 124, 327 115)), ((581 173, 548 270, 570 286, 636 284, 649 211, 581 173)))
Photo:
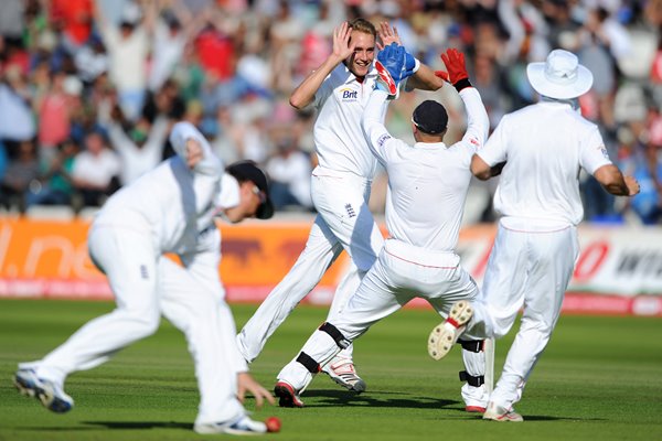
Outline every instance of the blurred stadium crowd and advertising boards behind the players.
MULTIPOLYGON (((421 61, 467 53, 492 128, 535 100, 526 63, 574 51, 595 75, 581 97, 610 155, 641 183, 631 201, 580 176, 583 252, 567 312, 662 316, 662 1, 619 0, 2 0, 0 2, 0 297, 110 299, 87 257, 89 218, 163 158, 169 125, 192 121, 226 162, 252 159, 274 182, 273 222, 223 225, 231 302, 257 302, 302 249, 313 208, 311 112, 289 93, 331 50, 342 20, 389 21, 421 61)), ((387 126, 410 139, 423 99, 449 109, 450 87, 403 94, 387 126)), ((385 176, 374 182, 380 218, 385 176)), ((460 239, 479 280, 494 234, 496 182, 471 186, 460 239)), ((309 297, 327 303, 341 259, 309 297)))

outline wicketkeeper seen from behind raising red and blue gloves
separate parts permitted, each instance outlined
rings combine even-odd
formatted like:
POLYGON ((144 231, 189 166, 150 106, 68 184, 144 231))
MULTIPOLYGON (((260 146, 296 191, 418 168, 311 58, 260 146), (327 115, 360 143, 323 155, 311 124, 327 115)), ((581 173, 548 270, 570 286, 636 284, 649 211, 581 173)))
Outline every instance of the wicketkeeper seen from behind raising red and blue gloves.
MULTIPOLYGON (((403 56, 404 49, 395 43, 378 56, 396 83, 403 56)), ((388 94, 382 83, 377 84, 362 125, 375 157, 388 173, 386 225, 391 238, 345 308, 323 323, 278 374, 275 392, 282 407, 302 407, 300 394, 324 363, 415 297, 427 299, 453 323, 451 342, 445 351, 479 312, 471 305, 479 290, 460 266, 455 248, 471 180, 471 157, 488 137, 489 119, 480 94, 469 82, 463 54, 450 49, 441 57, 449 82, 465 103, 467 132, 459 142, 446 146, 446 109, 426 100, 412 116, 416 143, 409 146, 393 138, 382 122, 388 94)))

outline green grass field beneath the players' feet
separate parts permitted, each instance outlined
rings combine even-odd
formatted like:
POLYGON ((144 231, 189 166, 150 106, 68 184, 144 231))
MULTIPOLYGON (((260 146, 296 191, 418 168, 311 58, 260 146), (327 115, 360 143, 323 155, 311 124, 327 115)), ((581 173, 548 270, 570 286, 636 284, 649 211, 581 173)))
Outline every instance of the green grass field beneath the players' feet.
MULTIPOLYGON (((40 358, 111 308, 0 300, 0 440, 213 438, 192 431, 193 366, 183 336, 166 321, 109 363, 72 375, 66 389, 76 407, 70 413, 51 413, 15 391, 18 362, 40 358)), ((232 308, 241 326, 256 305, 232 308)), ((325 309, 298 308, 253 364, 254 376, 270 389, 324 315, 325 309)), ((306 408, 267 406, 254 417, 279 417, 282 431, 267 435, 278 440, 662 440, 662 320, 563 316, 516 407, 521 424, 463 411, 459 347, 441 362, 427 355, 437 322, 430 310, 404 310, 360 338, 355 362, 366 392, 350 395, 320 375, 303 395, 306 408)), ((496 372, 511 340, 498 343, 496 372)))

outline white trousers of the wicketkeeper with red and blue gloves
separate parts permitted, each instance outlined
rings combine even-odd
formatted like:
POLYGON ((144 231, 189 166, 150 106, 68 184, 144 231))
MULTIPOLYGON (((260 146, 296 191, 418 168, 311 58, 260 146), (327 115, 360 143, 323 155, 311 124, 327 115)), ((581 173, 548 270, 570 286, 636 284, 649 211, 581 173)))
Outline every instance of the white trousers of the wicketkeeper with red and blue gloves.
MULTIPOLYGON (((479 295, 476 282, 459 261, 459 256, 453 252, 430 251, 387 239, 356 293, 329 323, 353 342, 374 323, 393 314, 415 297, 426 299, 442 318, 447 318, 452 303, 474 301, 479 295)), ((319 330, 301 349, 320 365, 339 351, 337 342, 319 330)), ((303 390, 312 380, 312 374, 295 358, 278 374, 278 379, 303 390)))

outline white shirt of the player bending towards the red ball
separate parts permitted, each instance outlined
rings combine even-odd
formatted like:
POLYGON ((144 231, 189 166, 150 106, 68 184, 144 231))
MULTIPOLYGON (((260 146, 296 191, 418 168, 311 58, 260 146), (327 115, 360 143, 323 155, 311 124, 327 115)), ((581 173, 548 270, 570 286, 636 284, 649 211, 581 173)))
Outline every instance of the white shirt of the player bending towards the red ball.
POLYGON ((177 123, 170 141, 178 154, 110 196, 95 226, 145 230, 158 252, 184 254, 197 249, 200 234, 213 227, 214 216, 238 204, 239 185, 191 123, 177 123), (201 143, 204 154, 194 170, 184 160, 190 138, 201 143))

